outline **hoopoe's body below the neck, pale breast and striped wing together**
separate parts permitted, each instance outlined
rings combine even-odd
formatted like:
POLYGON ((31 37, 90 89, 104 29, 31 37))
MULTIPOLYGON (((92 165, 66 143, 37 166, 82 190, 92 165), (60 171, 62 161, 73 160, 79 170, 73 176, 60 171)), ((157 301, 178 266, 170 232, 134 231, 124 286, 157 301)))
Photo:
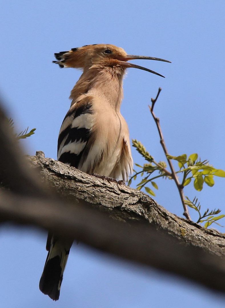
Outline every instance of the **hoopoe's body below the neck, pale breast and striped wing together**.
POLYGON ((63 120, 58 160, 88 174, 127 181, 133 161, 124 118, 107 102, 83 96, 63 120))

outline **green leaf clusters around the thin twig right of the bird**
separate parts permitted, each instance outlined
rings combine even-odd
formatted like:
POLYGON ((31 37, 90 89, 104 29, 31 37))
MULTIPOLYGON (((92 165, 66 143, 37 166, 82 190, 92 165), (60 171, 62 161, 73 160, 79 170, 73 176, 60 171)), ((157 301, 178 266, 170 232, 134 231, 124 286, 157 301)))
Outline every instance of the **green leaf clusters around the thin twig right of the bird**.
MULTIPOLYGON (((151 156, 149 152, 146 151, 144 145, 141 144, 141 142, 137 140, 132 140, 132 143, 133 147, 136 148, 136 150, 141 154, 141 156, 144 157, 147 163, 143 166, 135 164, 137 167, 141 168, 141 171, 136 172, 134 170, 135 173, 130 178, 128 185, 131 184, 132 180, 136 180, 137 175, 141 174, 142 180, 140 183, 137 184, 137 189, 141 190, 142 188, 145 188, 145 191, 149 193, 149 195, 155 196, 155 193, 151 188, 153 187, 155 189, 158 189, 158 186, 154 180, 160 177, 174 179, 173 174, 166 169, 166 162, 160 161, 157 163, 154 160, 153 156, 151 156), (157 172, 157 174, 155 175, 154 172, 157 172), (149 184, 152 185, 151 188, 149 187, 149 184)), ((166 158, 167 160, 175 160, 178 162, 179 170, 175 173, 182 174, 182 182, 180 184, 181 189, 189 185, 193 180, 194 188, 197 191, 201 191, 204 183, 207 184, 209 187, 214 186, 214 176, 225 177, 225 171, 214 168, 212 165, 209 164, 207 160, 201 161, 201 159, 198 159, 197 153, 191 154, 189 157, 187 157, 186 154, 182 154, 179 156, 172 156, 166 154, 166 158)), ((201 205, 200 203, 198 203, 198 199, 196 197, 193 201, 190 201, 190 199, 186 197, 184 203, 198 212, 199 218, 197 223, 204 223, 205 228, 209 227, 212 223, 219 225, 219 223, 216 221, 225 217, 225 215, 215 216, 221 212, 220 209, 215 209, 212 211, 209 211, 209 209, 207 209, 205 213, 201 214, 201 205)))

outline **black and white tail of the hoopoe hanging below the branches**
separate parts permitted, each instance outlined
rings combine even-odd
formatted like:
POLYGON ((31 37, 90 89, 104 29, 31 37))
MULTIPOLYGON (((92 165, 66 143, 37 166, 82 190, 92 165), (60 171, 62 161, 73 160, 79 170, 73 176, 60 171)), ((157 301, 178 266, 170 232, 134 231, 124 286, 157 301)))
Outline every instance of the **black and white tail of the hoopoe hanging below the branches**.
MULTIPOLYGON (((59 299, 63 272, 66 267, 72 242, 60 241, 52 237, 44 270, 40 279, 39 289, 54 301, 59 299)), ((48 248, 48 243, 47 247, 48 248)))

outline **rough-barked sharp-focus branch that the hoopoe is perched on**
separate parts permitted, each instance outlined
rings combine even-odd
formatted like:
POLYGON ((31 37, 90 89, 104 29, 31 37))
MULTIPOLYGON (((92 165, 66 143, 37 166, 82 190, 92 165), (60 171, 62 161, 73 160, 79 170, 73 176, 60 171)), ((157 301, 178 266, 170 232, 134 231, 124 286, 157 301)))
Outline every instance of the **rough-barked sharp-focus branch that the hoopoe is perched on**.
POLYGON ((33 167, 39 169, 43 181, 49 187, 54 187, 72 202, 87 201, 120 221, 148 222, 184 244, 200 247, 219 256, 225 254, 223 233, 203 228, 170 213, 137 189, 90 176, 59 161, 45 158, 41 151, 28 159, 33 167))

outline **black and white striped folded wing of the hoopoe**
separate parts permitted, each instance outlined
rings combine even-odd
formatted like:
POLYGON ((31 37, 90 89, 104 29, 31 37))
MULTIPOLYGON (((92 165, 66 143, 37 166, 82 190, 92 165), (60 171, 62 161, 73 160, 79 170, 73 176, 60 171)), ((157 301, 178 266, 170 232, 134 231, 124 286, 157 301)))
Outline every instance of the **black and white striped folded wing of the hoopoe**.
POLYGON ((78 168, 84 151, 87 151, 93 125, 92 104, 75 103, 65 116, 59 131, 57 155, 59 161, 78 168))

